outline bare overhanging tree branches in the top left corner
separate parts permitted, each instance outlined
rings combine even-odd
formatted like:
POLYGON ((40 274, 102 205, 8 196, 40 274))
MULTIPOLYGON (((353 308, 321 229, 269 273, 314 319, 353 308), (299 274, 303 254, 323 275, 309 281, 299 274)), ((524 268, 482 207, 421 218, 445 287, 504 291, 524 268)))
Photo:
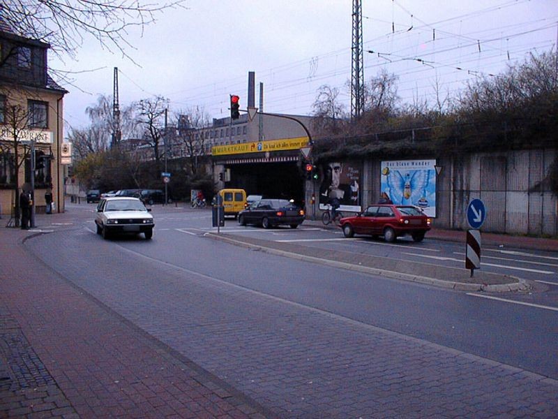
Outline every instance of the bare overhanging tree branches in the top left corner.
MULTIPOLYGON (((158 13, 182 7, 184 0, 4 0, 0 19, 15 34, 50 44, 55 54, 75 57, 86 36, 103 48, 126 54, 128 31, 155 22, 158 13)), ((2 61, 6 59, 2 54, 2 61)))

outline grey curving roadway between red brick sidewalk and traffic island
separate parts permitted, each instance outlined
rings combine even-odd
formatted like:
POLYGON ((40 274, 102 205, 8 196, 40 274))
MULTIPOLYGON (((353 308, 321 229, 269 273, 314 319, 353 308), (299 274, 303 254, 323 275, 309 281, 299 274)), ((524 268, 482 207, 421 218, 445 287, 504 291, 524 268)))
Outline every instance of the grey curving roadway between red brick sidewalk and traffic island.
MULTIPOLYGON (((81 210, 86 220, 90 210, 81 210)), ((514 374, 540 374, 535 383, 544 377, 558 379, 553 355, 558 311, 211 240, 204 235, 211 222, 208 211, 155 207, 153 213, 156 231, 150 241, 140 236, 106 241, 94 233, 92 221, 76 220, 27 245, 85 292, 279 416, 374 412, 371 402, 385 390, 377 385, 386 385, 386 374, 417 381, 418 387, 396 392, 393 409, 400 414, 411 412, 412 399, 426 400, 428 394, 432 408, 462 400, 463 394, 445 391, 437 398, 429 385, 423 386, 422 381, 432 384, 440 377, 448 385, 460 383, 462 392, 476 388, 492 395, 507 388, 514 374)), ((225 230, 239 229, 227 221, 225 230)), ((270 233, 246 229, 235 234, 270 233)), ((274 240, 318 237, 322 241, 307 243, 340 244, 324 241, 330 234, 336 237, 322 230, 281 229, 271 234, 274 240)), ((380 243, 341 243, 397 256, 380 243)), ((430 245, 425 241, 419 249, 430 245)), ((411 246, 398 247, 408 251, 411 246)), ((444 249, 453 251, 451 245, 444 249)), ((550 304, 554 297, 548 289, 513 297, 550 295, 543 299, 550 304)), ((552 307, 558 307, 556 300, 552 307)), ((530 390, 517 390, 528 392, 531 400, 542 396, 556 403, 552 385, 549 390, 529 382, 530 390)), ((500 392, 492 406, 504 409, 508 397, 518 395, 500 392)), ((478 401, 476 406, 484 409, 478 401)))

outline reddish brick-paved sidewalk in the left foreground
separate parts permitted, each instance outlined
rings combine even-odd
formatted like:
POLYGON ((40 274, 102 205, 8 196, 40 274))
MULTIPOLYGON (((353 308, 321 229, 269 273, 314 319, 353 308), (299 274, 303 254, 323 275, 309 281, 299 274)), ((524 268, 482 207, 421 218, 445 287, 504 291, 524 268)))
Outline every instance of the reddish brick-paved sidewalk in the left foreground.
POLYGON ((0 418, 269 416, 33 258, 33 234, 0 228, 0 418))

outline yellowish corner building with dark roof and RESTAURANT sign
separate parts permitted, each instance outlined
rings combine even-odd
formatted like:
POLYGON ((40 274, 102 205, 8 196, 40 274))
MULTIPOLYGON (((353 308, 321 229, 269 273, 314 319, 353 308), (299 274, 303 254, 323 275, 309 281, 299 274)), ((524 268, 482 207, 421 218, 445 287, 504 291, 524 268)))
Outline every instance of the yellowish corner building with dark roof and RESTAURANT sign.
POLYGON ((33 204, 37 213, 45 211, 45 193, 51 189, 54 211, 64 210, 62 110, 63 97, 68 91, 47 73, 49 48, 47 43, 17 36, 0 26, 2 215, 15 215, 16 193, 31 185, 34 185, 33 204), (32 149, 34 164, 31 164, 32 149))

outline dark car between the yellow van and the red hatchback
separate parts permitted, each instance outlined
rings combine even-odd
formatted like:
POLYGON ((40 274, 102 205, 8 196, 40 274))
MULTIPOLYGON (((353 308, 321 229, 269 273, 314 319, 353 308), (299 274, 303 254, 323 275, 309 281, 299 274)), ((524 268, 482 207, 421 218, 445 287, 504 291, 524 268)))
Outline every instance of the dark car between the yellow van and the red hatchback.
POLYGON ((297 228, 304 221, 304 210, 286 199, 262 199, 239 213, 239 224, 257 224, 264 228, 291 226, 297 228))

